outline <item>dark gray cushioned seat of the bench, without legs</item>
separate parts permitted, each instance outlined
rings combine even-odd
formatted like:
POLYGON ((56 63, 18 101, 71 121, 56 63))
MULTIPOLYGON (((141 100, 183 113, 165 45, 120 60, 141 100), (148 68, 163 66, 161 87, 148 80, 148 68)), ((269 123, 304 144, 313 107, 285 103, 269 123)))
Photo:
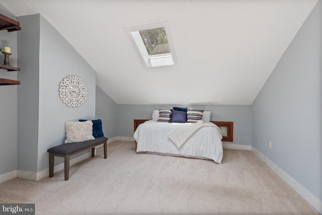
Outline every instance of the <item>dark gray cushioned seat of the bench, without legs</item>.
POLYGON ((61 154, 61 155, 68 155, 79 150, 85 149, 87 147, 91 147, 95 144, 99 144, 100 142, 108 140, 107 137, 101 136, 96 137, 95 139, 83 141, 83 142, 71 142, 69 144, 63 144, 59 146, 52 147, 47 150, 49 153, 61 154))

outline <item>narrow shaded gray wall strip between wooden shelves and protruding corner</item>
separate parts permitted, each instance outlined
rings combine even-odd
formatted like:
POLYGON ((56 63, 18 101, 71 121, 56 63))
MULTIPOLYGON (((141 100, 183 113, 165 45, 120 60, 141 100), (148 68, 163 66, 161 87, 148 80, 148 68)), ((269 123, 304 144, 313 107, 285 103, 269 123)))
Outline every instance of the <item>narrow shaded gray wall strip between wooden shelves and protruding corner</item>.
POLYGON ((39 15, 18 17, 18 170, 37 171, 39 122, 39 15))

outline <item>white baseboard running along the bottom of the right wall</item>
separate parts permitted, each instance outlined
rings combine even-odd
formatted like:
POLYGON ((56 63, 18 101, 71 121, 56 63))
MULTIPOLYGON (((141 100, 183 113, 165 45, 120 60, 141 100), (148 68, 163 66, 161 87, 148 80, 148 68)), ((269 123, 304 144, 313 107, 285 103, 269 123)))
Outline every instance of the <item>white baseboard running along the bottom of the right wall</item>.
POLYGON ((290 187, 292 187, 302 198, 304 198, 315 210, 319 213, 322 213, 322 201, 295 181, 291 176, 286 172, 280 169, 276 164, 264 156, 256 148, 251 148, 252 152, 257 155, 269 168, 271 168, 279 177, 281 177, 290 187))

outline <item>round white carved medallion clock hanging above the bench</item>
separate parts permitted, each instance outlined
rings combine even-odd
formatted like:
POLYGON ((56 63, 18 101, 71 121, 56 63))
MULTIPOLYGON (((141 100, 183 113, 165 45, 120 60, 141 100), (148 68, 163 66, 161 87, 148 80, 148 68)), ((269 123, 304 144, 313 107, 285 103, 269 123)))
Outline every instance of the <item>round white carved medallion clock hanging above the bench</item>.
POLYGON ((69 107, 81 106, 87 98, 84 81, 76 76, 68 76, 59 84, 59 97, 69 107))

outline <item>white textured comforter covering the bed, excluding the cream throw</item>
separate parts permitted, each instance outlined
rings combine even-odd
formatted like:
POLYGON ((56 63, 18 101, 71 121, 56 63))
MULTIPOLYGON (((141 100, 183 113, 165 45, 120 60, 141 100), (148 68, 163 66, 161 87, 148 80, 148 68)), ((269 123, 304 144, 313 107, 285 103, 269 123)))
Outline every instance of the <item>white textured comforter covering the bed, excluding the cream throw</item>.
POLYGON ((180 147, 168 137, 176 126, 187 124, 152 120, 140 124, 133 135, 137 142, 136 152, 209 159, 220 164, 223 155, 222 136, 220 129, 213 123, 209 126, 203 123, 180 147))

